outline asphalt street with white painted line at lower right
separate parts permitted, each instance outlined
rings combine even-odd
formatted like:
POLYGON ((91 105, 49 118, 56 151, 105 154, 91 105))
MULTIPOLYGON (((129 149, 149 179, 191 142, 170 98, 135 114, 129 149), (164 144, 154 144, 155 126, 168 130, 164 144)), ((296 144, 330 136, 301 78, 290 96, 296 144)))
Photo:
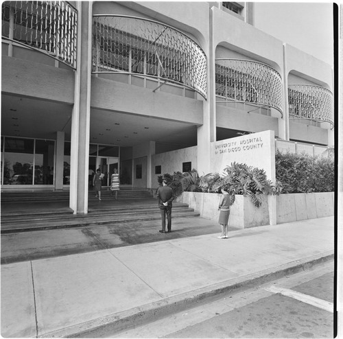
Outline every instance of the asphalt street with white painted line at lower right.
POLYGON ((333 263, 111 338, 333 338, 333 263))

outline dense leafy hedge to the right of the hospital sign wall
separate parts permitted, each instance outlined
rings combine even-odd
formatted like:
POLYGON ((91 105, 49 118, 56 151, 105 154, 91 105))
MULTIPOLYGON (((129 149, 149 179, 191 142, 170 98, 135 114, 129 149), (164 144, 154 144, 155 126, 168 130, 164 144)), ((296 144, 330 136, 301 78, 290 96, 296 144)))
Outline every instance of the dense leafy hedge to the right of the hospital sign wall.
POLYGON ((307 154, 275 154, 276 180, 281 181, 283 193, 333 191, 335 165, 332 157, 307 154))

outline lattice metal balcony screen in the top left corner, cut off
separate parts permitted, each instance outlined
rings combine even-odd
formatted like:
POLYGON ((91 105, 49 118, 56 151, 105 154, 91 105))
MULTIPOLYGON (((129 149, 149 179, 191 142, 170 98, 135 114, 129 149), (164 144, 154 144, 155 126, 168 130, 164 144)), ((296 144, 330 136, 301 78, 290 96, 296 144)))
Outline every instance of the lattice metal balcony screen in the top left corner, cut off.
POLYGON ((67 1, 5 1, 2 38, 76 67, 78 11, 67 1))

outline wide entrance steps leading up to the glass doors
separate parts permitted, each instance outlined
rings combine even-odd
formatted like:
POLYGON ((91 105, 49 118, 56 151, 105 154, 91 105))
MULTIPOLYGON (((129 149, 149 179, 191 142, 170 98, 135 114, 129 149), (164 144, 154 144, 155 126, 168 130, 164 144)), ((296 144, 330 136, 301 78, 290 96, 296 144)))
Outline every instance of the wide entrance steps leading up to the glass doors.
MULTIPOLYGON (((104 191, 102 201, 91 192, 88 214, 73 214, 68 199, 69 194, 65 192, 1 194, 1 233, 96 225, 115 227, 126 222, 139 226, 139 222, 161 220, 156 199, 149 191, 121 190, 117 199, 110 196, 110 191, 104 191)), ((187 204, 173 204, 172 218, 196 218, 199 215, 187 204)))

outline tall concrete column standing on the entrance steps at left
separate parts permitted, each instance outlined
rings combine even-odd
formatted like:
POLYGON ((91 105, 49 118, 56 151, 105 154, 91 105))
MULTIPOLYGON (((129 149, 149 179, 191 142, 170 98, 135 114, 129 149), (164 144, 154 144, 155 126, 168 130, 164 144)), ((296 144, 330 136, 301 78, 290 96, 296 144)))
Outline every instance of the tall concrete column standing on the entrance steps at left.
POLYGON ((88 212, 88 153, 91 117, 92 1, 77 3, 78 68, 75 71, 71 117, 71 184, 69 206, 74 213, 88 212))

